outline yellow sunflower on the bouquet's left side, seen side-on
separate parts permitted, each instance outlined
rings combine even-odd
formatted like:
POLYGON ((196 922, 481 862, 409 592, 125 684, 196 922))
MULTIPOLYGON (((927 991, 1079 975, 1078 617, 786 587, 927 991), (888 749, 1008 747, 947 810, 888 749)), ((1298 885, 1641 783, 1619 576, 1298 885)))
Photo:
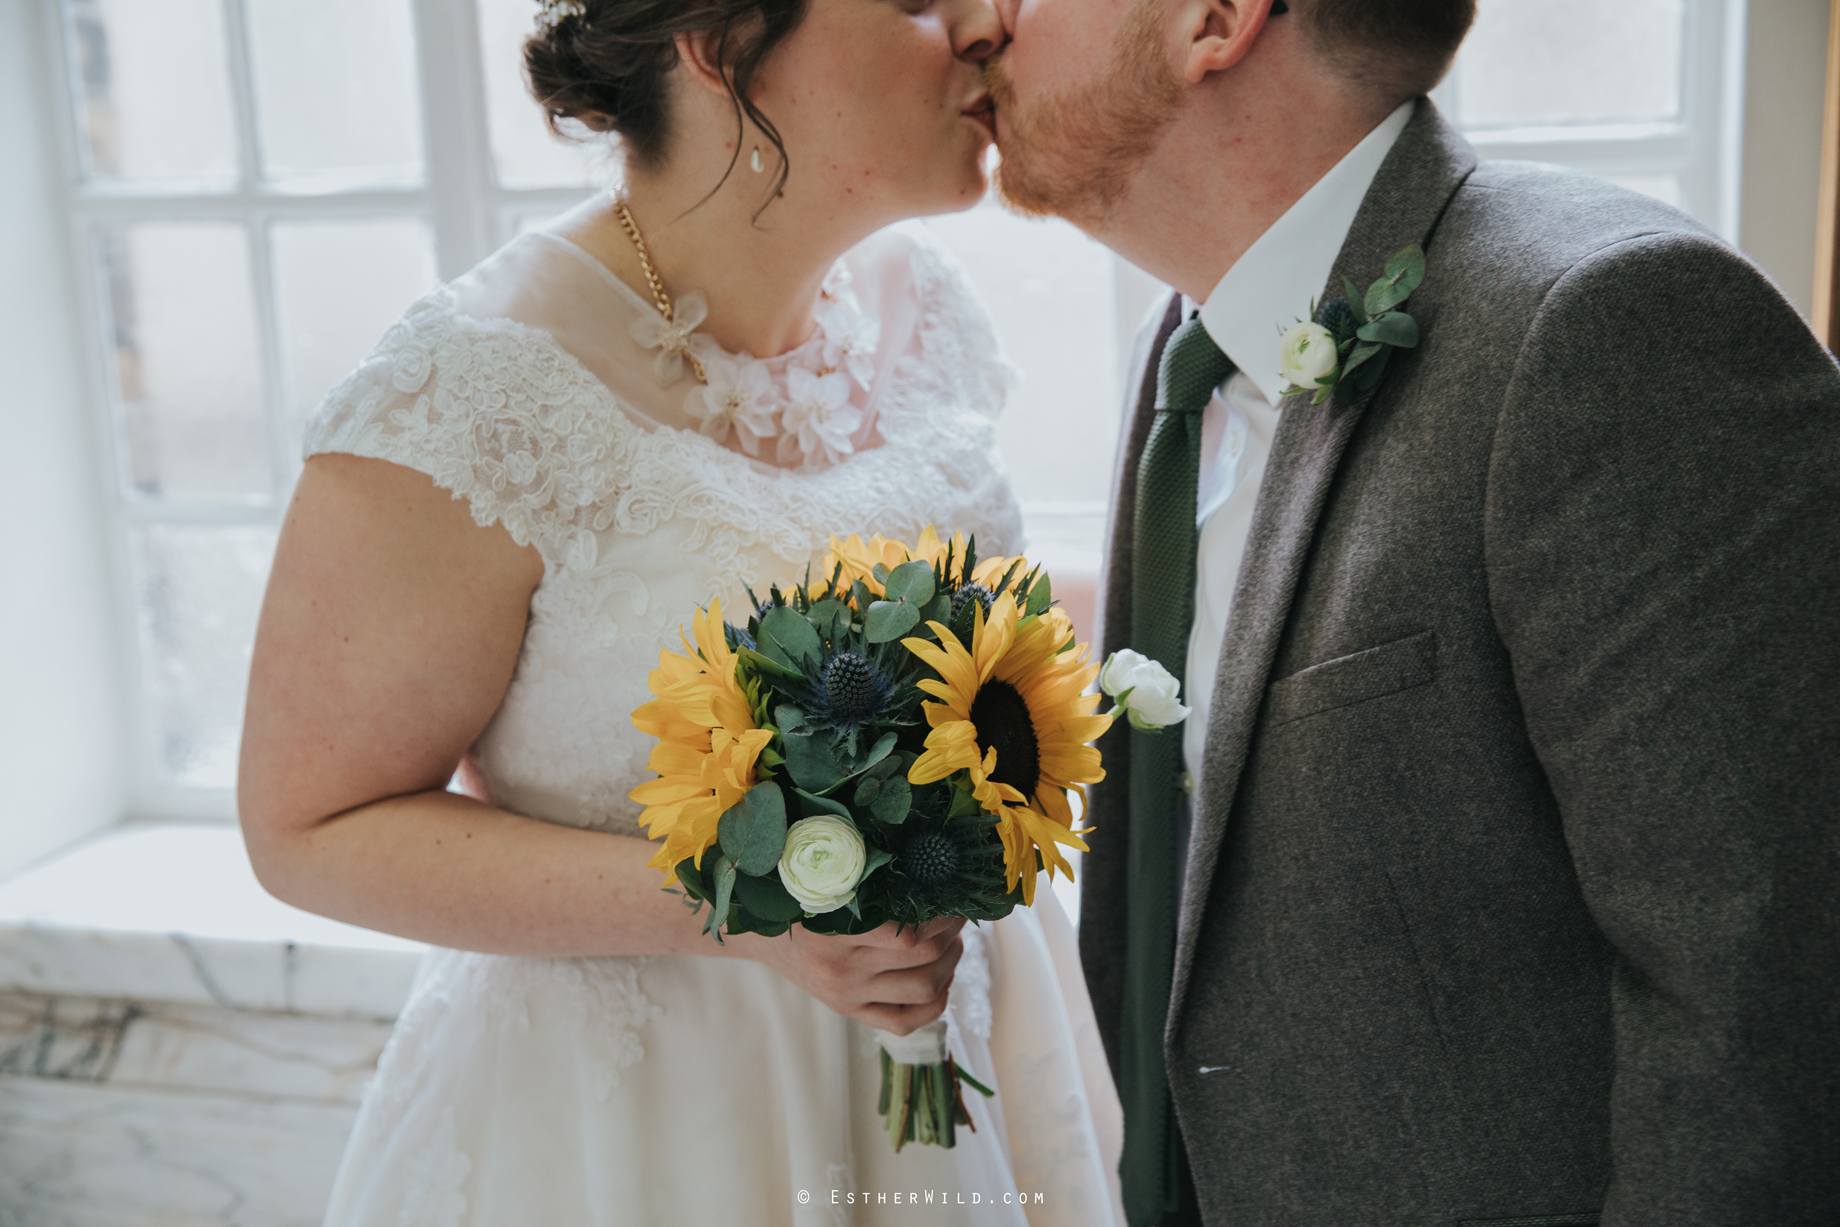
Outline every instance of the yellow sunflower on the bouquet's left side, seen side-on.
POLYGON ((646 763, 659 773, 627 797, 646 806, 638 820, 664 843, 650 865, 670 874, 686 857, 703 865, 716 843, 716 824, 756 782, 754 763, 773 740, 758 728, 747 692, 736 677, 736 659, 723 633, 721 602, 692 620, 696 644, 683 655, 659 651, 651 671, 657 695, 633 712, 633 725, 659 740, 646 763))

